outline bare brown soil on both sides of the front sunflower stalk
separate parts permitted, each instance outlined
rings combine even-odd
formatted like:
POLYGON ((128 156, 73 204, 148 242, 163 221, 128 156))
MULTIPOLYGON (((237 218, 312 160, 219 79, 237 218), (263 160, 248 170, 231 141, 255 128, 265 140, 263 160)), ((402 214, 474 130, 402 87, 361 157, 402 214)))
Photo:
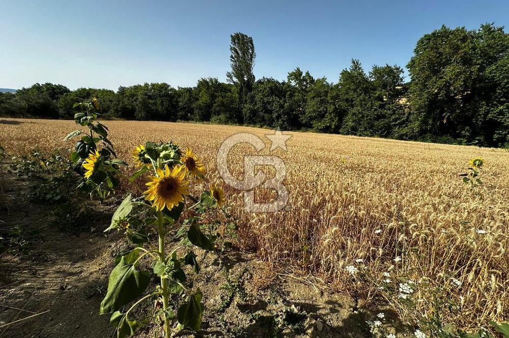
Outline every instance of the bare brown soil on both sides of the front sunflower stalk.
MULTIPOLYGON (((0 254, 0 338, 115 336, 109 318, 98 314, 114 257, 125 247, 120 236, 102 233, 114 206, 95 208, 100 212, 87 216, 79 232, 63 230, 55 225, 52 206, 31 199, 29 183, 1 172, 0 228, 37 228, 40 236, 29 253, 0 254), (19 322, 6 326, 15 321, 19 322)), ((316 278, 273 271, 256 253, 234 250, 199 256, 202 272, 195 284, 204 294, 202 330, 184 330, 176 336, 369 336, 366 318, 354 311, 352 299, 332 292, 316 278), (224 288, 227 275, 235 287, 232 297, 224 288), (291 305, 299 313, 295 327, 279 320, 291 305)), ((137 315, 150 306, 145 304, 137 315)), ((162 333, 157 323, 149 322, 135 336, 161 337, 162 333)))

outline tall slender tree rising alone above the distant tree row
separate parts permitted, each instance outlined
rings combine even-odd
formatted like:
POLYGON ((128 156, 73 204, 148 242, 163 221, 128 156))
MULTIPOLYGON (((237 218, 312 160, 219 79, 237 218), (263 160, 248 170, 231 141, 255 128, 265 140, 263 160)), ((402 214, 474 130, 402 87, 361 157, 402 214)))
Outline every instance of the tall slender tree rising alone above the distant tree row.
MULTIPOLYGON (((242 111, 243 98, 249 94, 254 85, 254 52, 253 39, 242 33, 235 33, 230 36, 230 63, 232 71, 226 74, 230 83, 233 83, 239 93, 239 112, 242 111)), ((242 115, 237 116, 239 123, 242 123, 242 115)))

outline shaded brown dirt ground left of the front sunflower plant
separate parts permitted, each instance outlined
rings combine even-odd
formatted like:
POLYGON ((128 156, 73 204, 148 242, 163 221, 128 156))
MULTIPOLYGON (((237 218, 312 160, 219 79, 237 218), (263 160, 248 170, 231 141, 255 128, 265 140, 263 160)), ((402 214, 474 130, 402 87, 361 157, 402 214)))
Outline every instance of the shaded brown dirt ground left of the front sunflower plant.
POLYGON ((106 239, 60 232, 50 208, 31 201, 27 183, 4 175, 2 185, 8 209, 0 209, 0 227, 40 228, 41 234, 30 255, 0 257, 0 326, 43 314, 0 328, 0 337, 110 336, 114 329, 98 316, 110 260, 106 239))

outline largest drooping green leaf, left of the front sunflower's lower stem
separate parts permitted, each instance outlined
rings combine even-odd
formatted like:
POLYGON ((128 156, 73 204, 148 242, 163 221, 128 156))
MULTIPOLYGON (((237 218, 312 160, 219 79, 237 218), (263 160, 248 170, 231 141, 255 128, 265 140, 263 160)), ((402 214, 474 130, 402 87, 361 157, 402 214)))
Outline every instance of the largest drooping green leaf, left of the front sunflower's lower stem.
POLYGON ((140 296, 150 282, 150 272, 136 271, 133 264, 127 264, 125 257, 109 275, 108 291, 101 302, 101 315, 113 313, 140 296))

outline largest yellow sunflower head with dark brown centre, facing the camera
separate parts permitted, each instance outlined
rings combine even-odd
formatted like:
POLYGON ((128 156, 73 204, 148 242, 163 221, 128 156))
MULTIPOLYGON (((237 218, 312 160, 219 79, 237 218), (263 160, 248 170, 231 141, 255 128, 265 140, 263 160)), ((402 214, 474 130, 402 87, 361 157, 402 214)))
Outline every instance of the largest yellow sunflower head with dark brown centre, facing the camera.
POLYGON ((172 210, 180 202, 184 202, 184 195, 189 194, 189 182, 185 180, 182 166, 174 166, 170 169, 167 165, 162 171, 157 168, 157 176, 149 177, 149 187, 144 193, 145 199, 152 201, 157 211, 164 207, 172 210))

